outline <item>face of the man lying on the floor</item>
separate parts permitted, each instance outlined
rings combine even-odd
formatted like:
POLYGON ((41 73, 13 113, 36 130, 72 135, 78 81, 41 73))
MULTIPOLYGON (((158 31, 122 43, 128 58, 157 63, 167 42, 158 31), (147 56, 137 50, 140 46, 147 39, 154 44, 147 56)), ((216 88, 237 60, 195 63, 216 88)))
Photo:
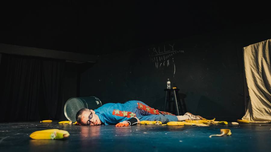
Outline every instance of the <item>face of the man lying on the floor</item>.
POLYGON ((90 125, 94 126, 94 125, 101 125, 101 120, 99 119, 99 117, 95 114, 95 111, 90 110, 90 111, 84 111, 82 114, 82 125, 87 125, 87 121, 90 121, 90 125), (89 120, 89 116, 92 113, 92 118, 89 120))

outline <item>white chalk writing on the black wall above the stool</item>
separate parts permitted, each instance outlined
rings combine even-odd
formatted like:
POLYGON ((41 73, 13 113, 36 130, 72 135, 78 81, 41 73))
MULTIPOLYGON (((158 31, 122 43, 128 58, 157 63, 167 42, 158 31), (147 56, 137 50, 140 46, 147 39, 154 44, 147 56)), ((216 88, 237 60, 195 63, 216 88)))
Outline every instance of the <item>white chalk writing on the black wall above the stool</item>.
POLYGON ((155 68, 158 69, 161 66, 169 67, 170 64, 173 64, 174 66, 173 77, 174 77, 175 72, 176 72, 174 56, 175 54, 184 53, 184 51, 180 49, 176 49, 176 48, 174 49, 174 43, 163 45, 162 47, 157 46, 157 47, 148 48, 148 51, 149 51, 149 57, 151 59, 151 62, 155 63, 155 68))

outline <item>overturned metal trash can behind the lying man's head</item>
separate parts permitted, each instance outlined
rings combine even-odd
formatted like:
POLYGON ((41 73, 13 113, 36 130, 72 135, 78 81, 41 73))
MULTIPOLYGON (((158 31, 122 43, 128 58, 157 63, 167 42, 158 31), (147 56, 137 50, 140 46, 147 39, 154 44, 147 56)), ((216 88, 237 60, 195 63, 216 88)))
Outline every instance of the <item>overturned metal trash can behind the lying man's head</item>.
POLYGON ((76 121, 76 113, 82 108, 97 109, 101 107, 101 101, 94 96, 91 97, 73 97, 67 100, 64 106, 64 114, 70 121, 76 121))

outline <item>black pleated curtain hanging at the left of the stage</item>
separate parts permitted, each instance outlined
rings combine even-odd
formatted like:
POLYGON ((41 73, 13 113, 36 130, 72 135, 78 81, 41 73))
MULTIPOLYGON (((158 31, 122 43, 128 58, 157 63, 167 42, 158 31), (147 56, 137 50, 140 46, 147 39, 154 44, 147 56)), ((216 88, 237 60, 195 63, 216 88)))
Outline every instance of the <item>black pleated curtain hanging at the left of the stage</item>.
POLYGON ((0 121, 61 119, 64 60, 2 54, 0 121))

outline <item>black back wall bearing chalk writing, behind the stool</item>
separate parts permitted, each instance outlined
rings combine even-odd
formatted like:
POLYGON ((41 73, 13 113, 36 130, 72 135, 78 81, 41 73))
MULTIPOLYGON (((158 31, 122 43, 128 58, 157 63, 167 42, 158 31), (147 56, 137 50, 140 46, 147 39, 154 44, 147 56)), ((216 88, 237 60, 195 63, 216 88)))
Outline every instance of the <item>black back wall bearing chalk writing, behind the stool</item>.
POLYGON ((245 113, 242 48, 270 36, 268 24, 244 24, 108 54, 81 75, 80 96, 96 96, 103 104, 140 100, 162 110, 170 78, 187 95, 189 112, 240 119, 245 113))

